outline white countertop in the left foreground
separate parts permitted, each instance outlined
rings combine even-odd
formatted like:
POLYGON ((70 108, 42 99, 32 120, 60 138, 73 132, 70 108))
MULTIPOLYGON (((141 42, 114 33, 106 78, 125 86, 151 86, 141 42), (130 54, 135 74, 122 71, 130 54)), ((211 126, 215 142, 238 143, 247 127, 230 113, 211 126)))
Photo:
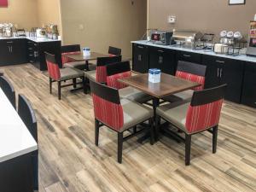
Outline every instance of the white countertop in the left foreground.
POLYGON ((0 163, 37 149, 38 144, 0 88, 0 163))

